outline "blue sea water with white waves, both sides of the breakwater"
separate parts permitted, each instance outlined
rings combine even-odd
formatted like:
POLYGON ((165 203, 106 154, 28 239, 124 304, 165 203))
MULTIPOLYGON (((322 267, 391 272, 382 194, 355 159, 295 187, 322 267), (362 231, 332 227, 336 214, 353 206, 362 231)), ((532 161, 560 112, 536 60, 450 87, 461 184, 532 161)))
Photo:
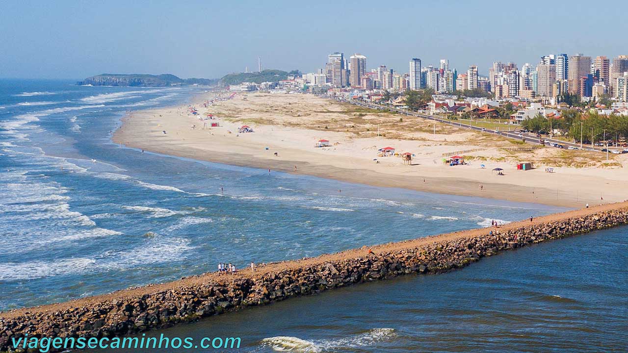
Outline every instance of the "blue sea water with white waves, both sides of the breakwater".
MULTIPOLYGON (((143 153, 111 142, 125 112, 207 88, 72 83, 0 80, 0 310, 564 210, 143 153)), ((243 352, 608 351, 628 329, 623 232, 165 331, 243 352)))

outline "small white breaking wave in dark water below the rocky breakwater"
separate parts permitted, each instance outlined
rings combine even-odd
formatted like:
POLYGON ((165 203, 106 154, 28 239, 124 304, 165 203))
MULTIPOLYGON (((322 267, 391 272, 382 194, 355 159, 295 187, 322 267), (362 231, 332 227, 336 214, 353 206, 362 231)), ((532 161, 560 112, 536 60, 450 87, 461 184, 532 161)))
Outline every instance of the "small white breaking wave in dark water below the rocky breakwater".
POLYGON ((394 329, 371 329, 363 334, 330 340, 304 340, 298 337, 276 336, 261 340, 263 347, 270 347, 276 352, 342 352, 355 350, 359 347, 371 347, 378 342, 386 342, 397 338, 394 329))

